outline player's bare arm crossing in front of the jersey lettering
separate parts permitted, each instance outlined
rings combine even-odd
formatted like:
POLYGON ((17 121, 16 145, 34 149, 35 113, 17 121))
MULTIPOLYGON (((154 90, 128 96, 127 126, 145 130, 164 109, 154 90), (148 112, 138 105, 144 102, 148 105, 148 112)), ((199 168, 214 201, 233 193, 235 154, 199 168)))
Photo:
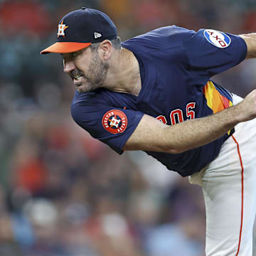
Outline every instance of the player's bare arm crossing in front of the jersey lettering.
POLYGON ((240 122, 256 117, 256 90, 245 100, 208 117, 166 125, 144 114, 124 145, 124 150, 145 150, 178 154, 220 138, 240 122))

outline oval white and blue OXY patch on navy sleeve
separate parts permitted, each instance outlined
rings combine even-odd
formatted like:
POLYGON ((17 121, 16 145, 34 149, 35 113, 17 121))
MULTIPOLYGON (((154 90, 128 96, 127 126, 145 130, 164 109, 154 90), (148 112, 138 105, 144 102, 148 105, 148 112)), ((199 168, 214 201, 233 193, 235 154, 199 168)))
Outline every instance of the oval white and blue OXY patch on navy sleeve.
POLYGON ((203 35, 205 36, 206 40, 209 43, 218 48, 226 48, 231 43, 230 37, 227 34, 220 31, 206 29, 205 31, 203 31, 203 35))

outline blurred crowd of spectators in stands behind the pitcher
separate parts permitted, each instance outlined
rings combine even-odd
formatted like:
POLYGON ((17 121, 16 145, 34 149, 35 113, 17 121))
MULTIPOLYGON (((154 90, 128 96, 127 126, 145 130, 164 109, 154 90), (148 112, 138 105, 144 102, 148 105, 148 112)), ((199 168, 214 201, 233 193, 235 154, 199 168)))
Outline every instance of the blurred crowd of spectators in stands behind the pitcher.
MULTIPOLYGON (((61 56, 39 54, 81 6, 105 11, 122 41, 171 24, 256 31, 254 0, 0 0, 0 255, 203 256, 201 188, 92 139, 70 117, 61 56)), ((245 96, 255 70, 246 60, 215 80, 245 96)))

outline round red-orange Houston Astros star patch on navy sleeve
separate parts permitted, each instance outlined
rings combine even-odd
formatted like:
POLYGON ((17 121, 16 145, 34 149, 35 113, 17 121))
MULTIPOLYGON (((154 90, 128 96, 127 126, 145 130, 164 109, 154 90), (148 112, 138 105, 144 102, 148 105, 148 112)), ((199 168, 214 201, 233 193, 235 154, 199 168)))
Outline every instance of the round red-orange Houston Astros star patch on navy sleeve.
POLYGON ((127 128, 127 116, 121 110, 110 110, 104 114, 102 125, 112 134, 124 132, 127 128))

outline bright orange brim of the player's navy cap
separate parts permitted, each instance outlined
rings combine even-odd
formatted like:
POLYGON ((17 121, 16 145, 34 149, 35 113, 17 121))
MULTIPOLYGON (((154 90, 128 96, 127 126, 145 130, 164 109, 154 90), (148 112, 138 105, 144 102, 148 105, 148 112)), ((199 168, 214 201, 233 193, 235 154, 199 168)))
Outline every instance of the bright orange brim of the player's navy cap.
POLYGON ((75 43, 75 42, 58 42, 41 51, 41 54, 46 53, 73 53, 77 50, 82 50, 90 46, 91 43, 75 43))

